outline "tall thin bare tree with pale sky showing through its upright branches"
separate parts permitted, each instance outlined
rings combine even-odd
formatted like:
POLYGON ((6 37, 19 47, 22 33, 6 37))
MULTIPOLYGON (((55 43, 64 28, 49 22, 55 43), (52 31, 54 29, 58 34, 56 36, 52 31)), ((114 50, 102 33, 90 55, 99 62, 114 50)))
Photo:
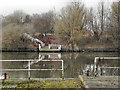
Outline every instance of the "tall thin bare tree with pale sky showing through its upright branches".
POLYGON ((109 7, 105 7, 105 4, 104 2, 99 2, 96 12, 93 8, 88 11, 88 26, 97 41, 100 41, 105 34, 107 35, 107 30, 109 29, 108 16, 110 13, 109 7))

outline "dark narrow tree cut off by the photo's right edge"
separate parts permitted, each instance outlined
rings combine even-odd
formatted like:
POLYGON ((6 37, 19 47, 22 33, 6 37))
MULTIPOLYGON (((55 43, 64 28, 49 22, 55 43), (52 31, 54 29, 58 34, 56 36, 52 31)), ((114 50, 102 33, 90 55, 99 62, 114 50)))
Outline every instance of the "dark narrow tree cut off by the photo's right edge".
POLYGON ((110 16, 109 16, 109 27, 110 27, 110 35, 112 35, 112 41, 114 43, 115 46, 118 47, 118 42, 119 42, 119 22, 120 22, 120 19, 119 19, 119 8, 118 8, 118 5, 119 3, 118 2, 113 2, 112 3, 112 10, 111 10, 111 13, 110 13, 110 16))

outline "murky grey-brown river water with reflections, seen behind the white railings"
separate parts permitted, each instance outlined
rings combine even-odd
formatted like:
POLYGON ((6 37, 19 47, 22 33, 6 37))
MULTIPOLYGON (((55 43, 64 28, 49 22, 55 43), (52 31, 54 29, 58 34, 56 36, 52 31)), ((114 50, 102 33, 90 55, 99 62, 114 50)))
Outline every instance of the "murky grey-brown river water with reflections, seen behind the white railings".
MULTIPOLYGON (((3 60, 23 60, 23 59, 62 59, 64 61, 64 77, 77 78, 84 75, 89 69, 90 75, 94 66, 95 57, 118 57, 116 52, 106 53, 37 53, 37 52, 3 52, 3 60), (50 58, 52 57, 52 58, 50 58), (58 57, 58 58, 57 58, 58 57)), ((118 67, 118 60, 104 60, 101 62, 106 67, 118 67)), ((31 69, 61 69, 61 62, 31 62, 31 69)), ((28 62, 2 62, 2 69, 28 69, 28 62)), ((9 78, 27 78, 28 71, 3 71, 9 78)), ((30 71, 31 78, 60 78, 61 71, 30 71)), ((103 69, 103 75, 117 75, 118 69, 103 69)), ((99 74, 98 74, 99 75, 99 74)))

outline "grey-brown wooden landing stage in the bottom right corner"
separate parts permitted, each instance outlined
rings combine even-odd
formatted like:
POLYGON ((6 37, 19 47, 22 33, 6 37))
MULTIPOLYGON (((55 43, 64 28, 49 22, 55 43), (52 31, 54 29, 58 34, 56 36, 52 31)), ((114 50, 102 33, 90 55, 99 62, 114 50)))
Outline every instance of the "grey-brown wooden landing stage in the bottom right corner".
POLYGON ((120 76, 84 76, 79 75, 85 88, 120 88, 120 76))

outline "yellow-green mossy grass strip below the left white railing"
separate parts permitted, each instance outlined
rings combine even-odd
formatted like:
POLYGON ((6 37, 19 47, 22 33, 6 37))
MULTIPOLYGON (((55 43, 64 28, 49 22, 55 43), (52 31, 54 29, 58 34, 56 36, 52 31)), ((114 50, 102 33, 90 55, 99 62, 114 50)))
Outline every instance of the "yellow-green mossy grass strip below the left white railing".
POLYGON ((2 84, 4 88, 81 88, 83 83, 79 79, 74 80, 7 80, 2 84), (9 87, 8 87, 9 86, 9 87))

